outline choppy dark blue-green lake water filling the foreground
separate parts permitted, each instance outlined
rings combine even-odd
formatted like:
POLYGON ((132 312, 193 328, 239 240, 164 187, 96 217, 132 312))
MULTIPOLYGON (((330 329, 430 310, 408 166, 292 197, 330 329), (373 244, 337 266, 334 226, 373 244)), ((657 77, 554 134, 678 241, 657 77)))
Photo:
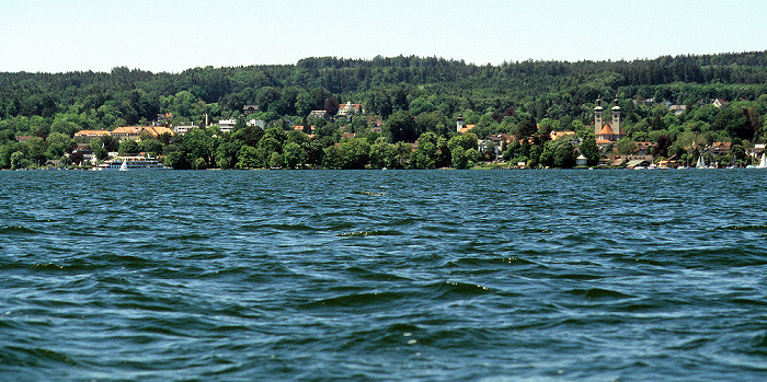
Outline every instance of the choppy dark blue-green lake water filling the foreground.
POLYGON ((767 172, 1 172, 8 381, 760 381, 767 172))

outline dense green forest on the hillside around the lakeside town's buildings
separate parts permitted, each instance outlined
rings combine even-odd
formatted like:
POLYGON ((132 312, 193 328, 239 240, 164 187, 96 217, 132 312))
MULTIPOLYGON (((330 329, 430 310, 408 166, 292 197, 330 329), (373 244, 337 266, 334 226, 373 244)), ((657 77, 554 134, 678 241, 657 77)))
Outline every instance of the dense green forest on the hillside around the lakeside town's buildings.
MULTIPOLYGON (((476 143, 456 137, 461 115, 466 124, 476 125, 471 132, 477 137, 530 138, 500 148, 507 160, 570 166, 570 158, 554 161, 552 153, 563 146, 560 152, 575 154, 577 144, 547 142, 546 136, 574 130, 579 141, 591 143, 592 111, 599 97, 617 100, 623 111, 628 137, 607 148, 610 152, 631 153, 632 142, 649 141, 659 158, 687 160, 708 143, 725 141, 735 149, 721 160, 745 164, 748 159, 741 151, 764 142, 767 130, 767 51, 500 66, 399 56, 306 58, 296 65, 206 67, 181 73, 125 67, 108 73, 4 72, 0 167, 38 166, 46 159, 77 163, 70 154, 75 132, 148 125, 160 113, 172 113, 169 123, 175 126, 199 125, 199 131, 126 148, 110 139, 81 143, 152 152, 174 167, 438 167, 492 160, 483 158, 476 143), (717 107, 713 100, 726 103, 717 107), (332 117, 346 102, 363 104, 365 115, 307 118, 314 109, 327 109, 332 117), (678 113, 668 107, 672 104, 686 109, 678 113), (257 105, 260 112, 249 118, 265 120, 265 129, 245 126, 245 105, 257 105), (240 119, 238 129, 221 134, 216 126, 203 126, 206 115, 213 121, 240 119), (376 124, 384 125, 380 134, 370 130, 376 124), (296 125, 316 126, 316 131, 302 129, 316 134, 301 136, 296 125), (19 142, 19 136, 32 138, 19 142), (453 152, 457 147, 465 157, 453 152), (374 154, 374 148, 385 152, 374 154), (351 158, 352 152, 357 157, 351 158), (294 154, 297 158, 288 159, 294 154), (378 154, 386 158, 373 158, 378 154)), ((594 162, 596 154, 587 157, 594 162)))

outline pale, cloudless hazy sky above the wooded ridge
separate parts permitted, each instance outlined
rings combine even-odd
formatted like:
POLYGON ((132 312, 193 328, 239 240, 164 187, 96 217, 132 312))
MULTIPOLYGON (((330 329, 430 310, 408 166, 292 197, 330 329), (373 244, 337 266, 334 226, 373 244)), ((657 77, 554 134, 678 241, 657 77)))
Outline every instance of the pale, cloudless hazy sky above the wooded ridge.
POLYGON ((437 56, 478 65, 767 49, 763 1, 4 0, 0 71, 437 56))

